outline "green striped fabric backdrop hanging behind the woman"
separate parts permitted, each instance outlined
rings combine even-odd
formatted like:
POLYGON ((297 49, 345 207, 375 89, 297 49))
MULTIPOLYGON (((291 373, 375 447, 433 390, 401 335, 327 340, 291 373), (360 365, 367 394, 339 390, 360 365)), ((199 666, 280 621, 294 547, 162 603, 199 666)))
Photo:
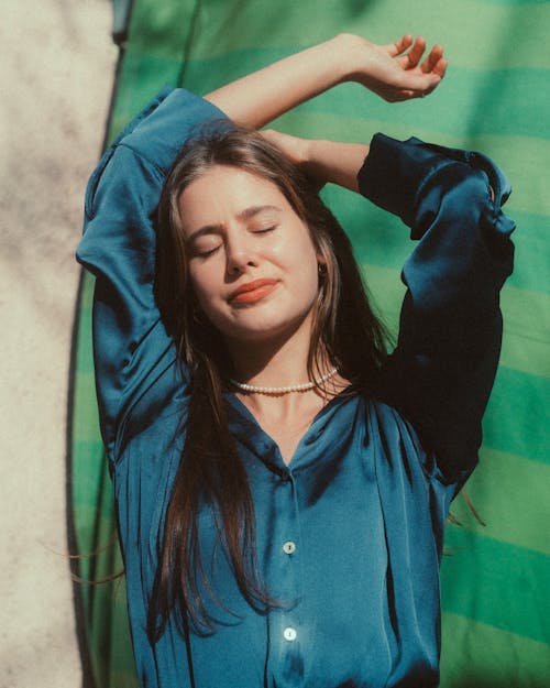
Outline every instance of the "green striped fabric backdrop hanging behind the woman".
MULTIPOLYGON (((503 293, 501 368, 484 419, 481 466, 466 485, 485 525, 455 501, 442 567, 443 688, 550 686, 550 2, 461 0, 134 0, 110 134, 164 84, 206 92, 330 35, 389 42, 406 31, 441 42, 448 76, 429 100, 388 105, 340 86, 286 114, 296 134, 369 141, 378 130, 481 150, 506 170, 518 223, 517 266, 503 293)), ((323 192, 349 230, 380 310, 396 327, 399 267, 410 250, 395 218, 338 188, 323 192)), ((73 510, 79 575, 122 569, 98 433, 90 351, 92 284, 78 312, 73 510)), ((134 675, 124 580, 79 587, 97 688, 134 675)), ((244 687, 243 687, 244 688, 244 687)))

